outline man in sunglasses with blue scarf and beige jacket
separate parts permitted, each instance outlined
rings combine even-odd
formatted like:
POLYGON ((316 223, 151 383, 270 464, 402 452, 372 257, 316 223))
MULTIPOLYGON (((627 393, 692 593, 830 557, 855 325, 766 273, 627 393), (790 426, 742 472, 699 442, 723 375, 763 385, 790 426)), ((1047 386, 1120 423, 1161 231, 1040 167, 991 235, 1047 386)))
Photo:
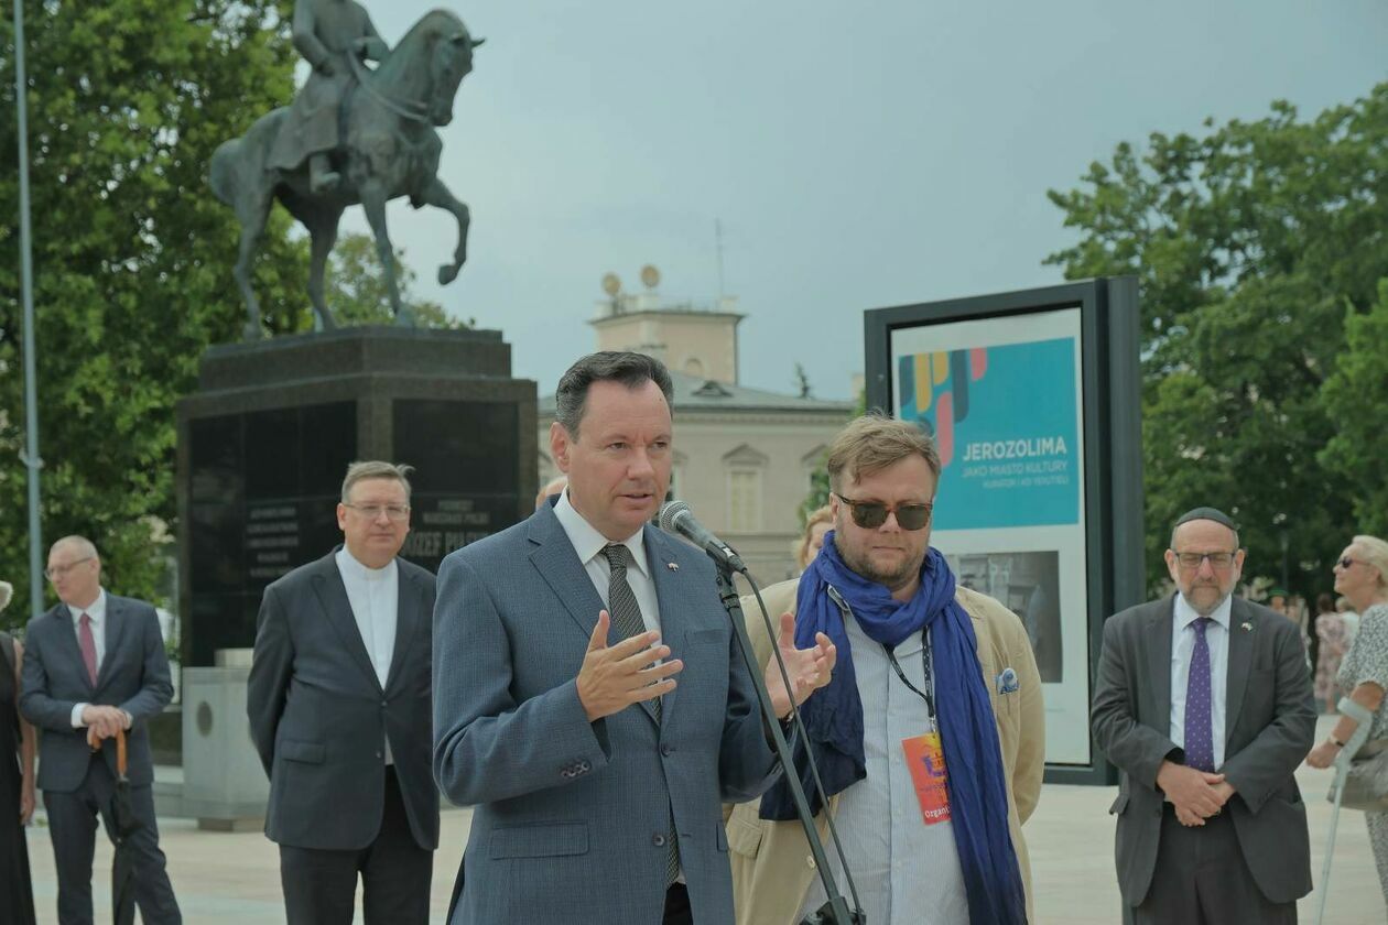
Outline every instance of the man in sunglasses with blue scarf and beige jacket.
MULTIPOLYGON (((1022 822, 1045 753, 1026 628, 958 587, 930 546, 940 455, 920 429, 859 417, 827 467, 833 531, 805 573, 765 599, 773 617, 794 613, 795 645, 823 632, 837 646, 833 680, 801 716, 862 910, 880 925, 1020 925, 1030 893, 1022 822)), ((765 663, 756 602, 743 609, 765 663)), ((804 763, 799 775, 812 793, 804 763)), ((818 795, 811 807, 823 833, 818 795)), ((824 903, 784 782, 733 809, 727 843, 738 925, 793 925, 824 903)), ((848 896, 831 846, 829 857, 848 896)))

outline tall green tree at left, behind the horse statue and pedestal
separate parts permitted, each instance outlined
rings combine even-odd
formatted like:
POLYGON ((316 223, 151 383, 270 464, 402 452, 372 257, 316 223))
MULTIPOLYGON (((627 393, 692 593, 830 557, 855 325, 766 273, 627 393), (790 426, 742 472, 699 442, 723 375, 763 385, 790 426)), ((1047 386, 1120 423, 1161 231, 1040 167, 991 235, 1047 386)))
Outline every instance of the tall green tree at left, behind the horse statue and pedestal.
MULTIPOLYGON (((223 140, 289 101, 289 0, 25 0, 43 535, 81 533, 112 588, 157 596, 175 517, 174 404, 236 340, 239 229, 207 189, 223 140)), ((0 25, 14 112, 14 24, 0 25)), ((0 119, 0 576, 28 614, 15 123, 0 119)), ((307 248, 276 209, 257 263, 271 330, 310 323, 307 248)))

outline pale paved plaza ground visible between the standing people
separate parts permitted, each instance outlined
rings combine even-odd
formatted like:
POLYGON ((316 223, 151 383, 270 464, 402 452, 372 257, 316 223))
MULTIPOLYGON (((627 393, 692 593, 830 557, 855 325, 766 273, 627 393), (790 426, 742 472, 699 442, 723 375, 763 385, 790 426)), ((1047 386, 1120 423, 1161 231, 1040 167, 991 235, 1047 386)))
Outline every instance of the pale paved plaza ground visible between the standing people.
MULTIPOLYGON (((1328 718, 1323 717, 1321 735, 1328 731, 1327 723, 1328 718)), ((1330 828, 1330 804, 1324 799, 1330 771, 1302 767, 1296 777, 1309 807, 1312 871, 1319 890, 1330 828)), ((1042 790, 1041 806, 1026 827, 1040 925, 1109 925, 1120 921, 1119 890, 1113 878, 1113 818, 1108 814, 1115 792, 1116 788, 1060 785, 1048 785, 1042 790)), ((466 810, 443 814, 441 843, 434 860, 432 919, 440 925, 448 908, 471 818, 466 810)), ((279 856, 264 835, 200 832, 192 820, 175 818, 160 820, 160 827, 169 874, 189 925, 273 925, 285 921, 279 856)), ((53 922, 57 882, 46 828, 29 829, 29 853, 39 922, 53 922)), ((97 874, 93 876, 97 921, 110 908, 104 889, 110 863, 111 846, 99 843, 97 874)), ((1346 810, 1341 814, 1331 879, 1326 922, 1381 925, 1385 921, 1369 836, 1359 813, 1346 810)), ((1319 892, 1302 900, 1302 922, 1314 922, 1319 901, 1319 892)))

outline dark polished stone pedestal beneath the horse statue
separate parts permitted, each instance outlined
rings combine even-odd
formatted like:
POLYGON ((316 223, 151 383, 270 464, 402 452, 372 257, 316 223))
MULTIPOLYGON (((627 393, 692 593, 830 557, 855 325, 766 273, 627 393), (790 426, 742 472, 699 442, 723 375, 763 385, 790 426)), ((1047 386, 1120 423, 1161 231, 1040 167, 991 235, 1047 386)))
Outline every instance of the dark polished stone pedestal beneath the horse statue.
POLYGON ((187 667, 250 648, 265 585, 341 541, 335 508, 353 460, 415 467, 401 555, 430 571, 530 513, 536 387, 511 377, 500 331, 353 327, 229 344, 203 356, 198 386, 178 406, 187 667))

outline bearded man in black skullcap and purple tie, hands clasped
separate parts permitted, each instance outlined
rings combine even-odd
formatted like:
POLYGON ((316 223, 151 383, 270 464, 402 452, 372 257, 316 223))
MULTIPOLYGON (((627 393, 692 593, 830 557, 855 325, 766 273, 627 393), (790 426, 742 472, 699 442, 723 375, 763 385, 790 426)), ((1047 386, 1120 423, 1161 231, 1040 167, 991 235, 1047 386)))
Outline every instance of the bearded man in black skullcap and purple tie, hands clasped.
POLYGON ((1091 727, 1122 771, 1117 874, 1138 925, 1276 925, 1310 892, 1292 772, 1316 707, 1296 627, 1231 598, 1233 520, 1196 508, 1171 530, 1178 592, 1103 625, 1091 727))

